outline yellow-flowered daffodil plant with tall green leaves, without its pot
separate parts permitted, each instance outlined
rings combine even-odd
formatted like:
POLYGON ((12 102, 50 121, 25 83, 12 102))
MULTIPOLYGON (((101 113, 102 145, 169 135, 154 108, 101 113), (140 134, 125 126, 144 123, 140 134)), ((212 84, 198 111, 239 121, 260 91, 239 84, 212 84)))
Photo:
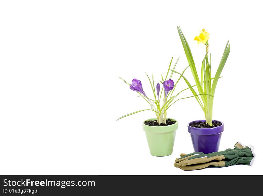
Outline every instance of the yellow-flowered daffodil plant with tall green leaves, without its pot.
MULTIPOLYGON (((208 40, 210 34, 205 30, 201 30, 200 34, 198 36, 195 36, 194 40, 197 41, 198 44, 203 43, 206 46, 206 53, 204 55, 204 59, 201 64, 201 75, 198 76, 198 73, 196 71, 195 62, 192 56, 192 52, 190 50, 190 47, 186 41, 186 38, 181 30, 180 27, 177 27, 178 33, 182 42, 182 45, 184 47, 184 52, 187 58, 187 61, 189 63, 192 75, 195 79, 195 86, 197 87, 197 90, 200 94, 200 98, 198 96, 195 96, 196 100, 198 101, 198 104, 201 106, 204 114, 206 123, 209 125, 212 125, 212 111, 213 111, 213 101, 214 101, 214 94, 215 94, 215 88, 218 82, 218 79, 220 78, 220 74, 224 68, 224 65, 227 61, 227 57, 230 53, 230 44, 228 44, 229 41, 227 41, 226 47, 224 49, 223 56, 221 58, 221 61, 219 63, 219 66, 217 68, 217 71, 215 73, 215 77, 211 77, 211 53, 208 51, 208 40), (213 81, 212 81, 213 80, 213 81)), ((171 70, 172 72, 176 72, 174 70, 171 70)), ((176 72, 178 73, 178 72, 176 72)), ((180 74, 180 73, 178 73, 180 74)), ((189 86, 189 89, 193 93, 193 95, 197 95, 197 92, 192 88, 189 81, 181 75, 186 84, 189 86)))

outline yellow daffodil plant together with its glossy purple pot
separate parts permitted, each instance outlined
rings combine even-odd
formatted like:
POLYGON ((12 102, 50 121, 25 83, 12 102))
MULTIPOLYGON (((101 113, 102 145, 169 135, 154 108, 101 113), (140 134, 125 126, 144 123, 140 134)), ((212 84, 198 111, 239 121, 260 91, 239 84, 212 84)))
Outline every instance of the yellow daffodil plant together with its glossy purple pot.
MULTIPOLYGON (((201 94, 201 99, 199 96, 195 96, 195 98, 205 114, 205 120, 192 121, 188 124, 188 132, 191 134, 193 147, 196 152, 204 152, 205 154, 217 152, 220 144, 221 133, 224 131, 224 124, 221 121, 212 120, 213 100, 215 87, 230 53, 230 45, 227 41, 223 56, 215 73, 215 77, 212 78, 211 53, 209 54, 208 50, 208 40, 210 35, 205 29, 200 30, 200 34, 195 36, 194 40, 197 41, 198 44, 204 44, 206 46, 206 52, 201 64, 201 75, 198 77, 190 47, 180 27, 178 27, 178 33, 181 38, 190 69, 192 71, 192 75, 195 79, 194 86, 196 86, 199 94, 201 94)), ((172 72, 176 71, 172 70, 172 72)), ((193 95, 196 95, 197 93, 193 89, 193 86, 190 85, 189 81, 187 81, 184 76, 182 77, 191 89, 193 95)))

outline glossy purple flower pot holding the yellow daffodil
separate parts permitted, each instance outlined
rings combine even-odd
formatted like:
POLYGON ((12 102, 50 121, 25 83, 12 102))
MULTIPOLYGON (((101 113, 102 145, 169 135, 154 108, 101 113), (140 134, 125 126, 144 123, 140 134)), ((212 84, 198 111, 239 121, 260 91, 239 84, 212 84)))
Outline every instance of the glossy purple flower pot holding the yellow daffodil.
MULTIPOLYGON (((200 120, 205 122, 205 120, 200 120)), ((192 124, 192 121, 189 124, 192 124)), ((215 122, 215 120, 213 120, 215 122)), ((221 121, 218 121, 221 122, 221 121)), ((222 122, 221 122, 222 123, 222 122)), ((218 152, 221 134, 224 131, 224 124, 212 128, 195 128, 188 124, 188 132, 191 134, 192 143, 195 152, 204 152, 205 154, 211 152, 218 152)))

